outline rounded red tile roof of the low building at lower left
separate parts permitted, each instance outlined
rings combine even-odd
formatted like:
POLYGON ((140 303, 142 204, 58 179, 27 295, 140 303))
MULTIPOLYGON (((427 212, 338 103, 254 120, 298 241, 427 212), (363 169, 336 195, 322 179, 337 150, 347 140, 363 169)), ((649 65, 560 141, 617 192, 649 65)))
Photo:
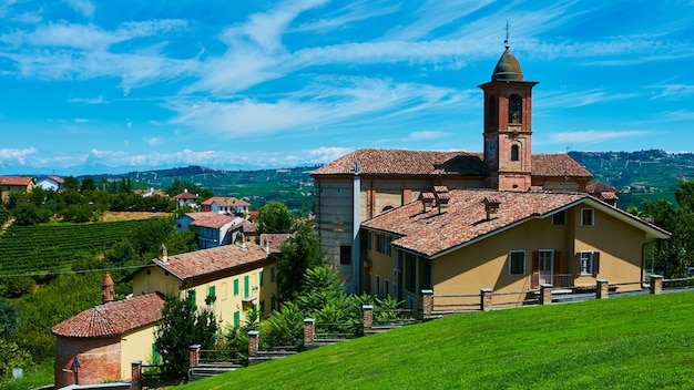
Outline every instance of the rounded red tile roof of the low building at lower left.
POLYGON ((164 298, 155 292, 114 300, 68 318, 51 332, 79 338, 119 336, 159 321, 163 307, 164 298))

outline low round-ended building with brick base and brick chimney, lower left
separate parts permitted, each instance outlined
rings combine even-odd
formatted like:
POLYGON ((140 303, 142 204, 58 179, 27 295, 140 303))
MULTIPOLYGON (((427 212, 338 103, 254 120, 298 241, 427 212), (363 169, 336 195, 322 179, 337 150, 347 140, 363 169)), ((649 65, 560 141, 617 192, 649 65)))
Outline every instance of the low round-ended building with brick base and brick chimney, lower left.
POLYGON ((103 305, 71 317, 51 331, 55 336, 55 388, 95 384, 131 378, 133 360, 150 361, 155 353, 154 328, 162 318, 164 298, 144 294, 113 300, 113 280, 106 273, 103 305), (79 362, 76 376, 74 365, 79 362))

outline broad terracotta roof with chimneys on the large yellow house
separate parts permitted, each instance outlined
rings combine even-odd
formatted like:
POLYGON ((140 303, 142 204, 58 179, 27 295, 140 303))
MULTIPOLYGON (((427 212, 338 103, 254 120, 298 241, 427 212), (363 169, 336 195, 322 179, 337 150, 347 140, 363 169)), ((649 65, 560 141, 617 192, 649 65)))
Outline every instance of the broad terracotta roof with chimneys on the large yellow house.
POLYGON ((435 256, 524 218, 544 215, 589 197, 588 194, 482 189, 453 189, 449 194, 447 213, 439 214, 437 207, 425 213, 421 202, 412 202, 363 226, 402 236, 392 240, 397 247, 435 256), (500 202, 497 217, 490 220, 487 220, 486 198, 500 202))

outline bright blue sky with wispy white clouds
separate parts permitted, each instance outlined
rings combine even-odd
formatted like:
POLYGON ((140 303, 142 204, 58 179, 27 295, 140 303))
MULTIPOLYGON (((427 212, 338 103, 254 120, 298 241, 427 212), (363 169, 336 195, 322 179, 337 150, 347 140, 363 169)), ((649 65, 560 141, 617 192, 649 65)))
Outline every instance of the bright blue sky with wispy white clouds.
POLYGON ((0 174, 477 152, 509 43, 533 152, 694 152, 694 0, 0 0, 0 174))

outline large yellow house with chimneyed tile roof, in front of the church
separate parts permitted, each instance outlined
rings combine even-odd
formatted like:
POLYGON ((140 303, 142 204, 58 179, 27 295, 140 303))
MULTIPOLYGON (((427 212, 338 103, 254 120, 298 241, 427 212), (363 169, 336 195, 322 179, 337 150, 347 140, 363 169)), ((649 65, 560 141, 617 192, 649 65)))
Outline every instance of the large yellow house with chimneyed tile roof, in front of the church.
MULTIPOLYGON (((421 305, 436 295, 590 287, 640 289, 643 245, 670 234, 589 194, 455 189, 361 224, 367 292, 421 305)), ((516 299, 522 299, 519 295, 516 299)))

